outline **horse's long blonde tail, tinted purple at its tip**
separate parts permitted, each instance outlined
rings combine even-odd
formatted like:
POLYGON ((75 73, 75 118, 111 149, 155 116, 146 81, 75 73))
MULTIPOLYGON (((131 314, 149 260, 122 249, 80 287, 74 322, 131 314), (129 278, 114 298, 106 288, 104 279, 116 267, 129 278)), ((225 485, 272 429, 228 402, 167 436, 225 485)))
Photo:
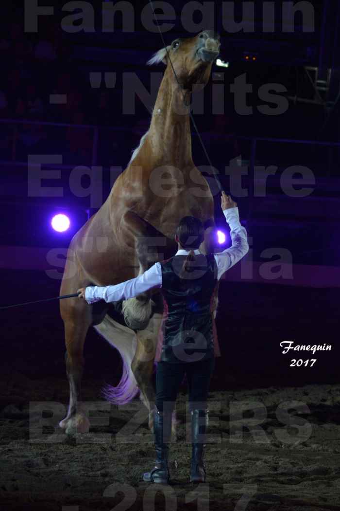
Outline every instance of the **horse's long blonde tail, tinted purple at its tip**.
POLYGON ((116 350, 123 359, 123 375, 117 387, 106 385, 101 393, 107 401, 123 405, 131 401, 139 392, 131 363, 137 349, 137 337, 133 330, 114 321, 106 315, 100 324, 94 327, 116 350))

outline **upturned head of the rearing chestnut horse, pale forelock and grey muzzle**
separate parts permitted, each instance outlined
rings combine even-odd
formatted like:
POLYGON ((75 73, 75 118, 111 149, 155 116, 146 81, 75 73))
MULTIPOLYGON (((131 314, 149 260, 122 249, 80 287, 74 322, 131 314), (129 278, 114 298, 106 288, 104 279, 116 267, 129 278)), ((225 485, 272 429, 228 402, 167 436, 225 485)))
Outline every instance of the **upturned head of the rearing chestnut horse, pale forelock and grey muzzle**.
POLYGON ((176 83, 172 66, 178 81, 184 88, 191 89, 193 84, 205 84, 210 76, 212 64, 220 52, 220 36, 212 30, 203 30, 195 37, 179 38, 158 51, 148 64, 163 62, 167 65, 171 80, 176 83), (172 62, 168 62, 168 54, 172 62))

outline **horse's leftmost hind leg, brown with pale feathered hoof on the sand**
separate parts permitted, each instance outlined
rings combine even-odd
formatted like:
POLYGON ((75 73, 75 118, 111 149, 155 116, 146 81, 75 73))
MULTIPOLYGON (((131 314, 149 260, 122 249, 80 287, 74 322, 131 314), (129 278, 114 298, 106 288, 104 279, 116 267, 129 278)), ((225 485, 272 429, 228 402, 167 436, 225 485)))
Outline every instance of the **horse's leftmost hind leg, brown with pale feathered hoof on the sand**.
POLYGON ((66 374, 70 387, 70 401, 65 419, 59 426, 65 429, 67 434, 87 433, 89 431, 89 420, 81 408, 81 380, 84 368, 83 348, 85 337, 89 328, 86 318, 75 320, 66 319, 65 343, 66 343, 66 374))

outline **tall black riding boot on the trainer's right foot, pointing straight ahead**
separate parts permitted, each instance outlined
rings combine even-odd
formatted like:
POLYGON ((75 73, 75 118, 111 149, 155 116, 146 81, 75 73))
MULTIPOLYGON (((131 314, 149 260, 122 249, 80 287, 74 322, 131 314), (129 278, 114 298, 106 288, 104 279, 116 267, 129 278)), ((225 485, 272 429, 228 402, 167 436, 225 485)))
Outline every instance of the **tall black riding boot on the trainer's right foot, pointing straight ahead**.
POLYGON ((205 482, 205 464, 203 449, 208 425, 208 408, 191 410, 191 444, 192 456, 190 467, 190 482, 205 482))

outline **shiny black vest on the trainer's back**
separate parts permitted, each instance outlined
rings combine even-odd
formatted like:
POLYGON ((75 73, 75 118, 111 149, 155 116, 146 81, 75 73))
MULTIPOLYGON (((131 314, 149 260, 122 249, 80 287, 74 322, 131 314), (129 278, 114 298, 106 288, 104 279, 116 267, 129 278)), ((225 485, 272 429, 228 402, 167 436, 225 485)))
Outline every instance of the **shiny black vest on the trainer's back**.
POLYGON ((164 299, 163 345, 160 361, 186 363, 214 357, 211 300, 217 285, 214 254, 195 254, 195 262, 180 277, 186 255, 161 262, 164 299))

